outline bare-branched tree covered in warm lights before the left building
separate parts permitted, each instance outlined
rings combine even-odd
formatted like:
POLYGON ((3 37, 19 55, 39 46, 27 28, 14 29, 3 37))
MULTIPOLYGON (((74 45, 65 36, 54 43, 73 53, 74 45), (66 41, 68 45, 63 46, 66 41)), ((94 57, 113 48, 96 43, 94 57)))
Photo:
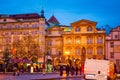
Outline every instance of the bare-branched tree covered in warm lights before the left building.
POLYGON ((38 54, 40 53, 37 38, 33 36, 23 37, 21 40, 13 42, 14 57, 28 59, 32 62, 37 62, 38 54))

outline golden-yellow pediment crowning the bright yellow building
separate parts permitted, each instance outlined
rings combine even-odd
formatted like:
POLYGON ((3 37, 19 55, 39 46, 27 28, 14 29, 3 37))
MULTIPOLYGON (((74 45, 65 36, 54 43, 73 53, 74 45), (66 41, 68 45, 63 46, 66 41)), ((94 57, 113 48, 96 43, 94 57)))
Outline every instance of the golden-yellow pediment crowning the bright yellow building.
POLYGON ((93 21, 85 20, 85 19, 71 23, 72 26, 76 26, 76 25, 94 25, 95 26, 96 24, 97 22, 93 22, 93 21))

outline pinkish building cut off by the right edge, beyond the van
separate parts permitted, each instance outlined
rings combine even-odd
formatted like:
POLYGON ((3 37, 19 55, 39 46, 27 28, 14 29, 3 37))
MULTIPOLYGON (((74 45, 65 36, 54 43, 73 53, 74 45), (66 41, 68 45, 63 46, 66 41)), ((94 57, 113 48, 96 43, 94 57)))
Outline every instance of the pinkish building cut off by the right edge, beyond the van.
POLYGON ((114 61, 120 72, 120 26, 113 28, 106 36, 106 58, 114 61))

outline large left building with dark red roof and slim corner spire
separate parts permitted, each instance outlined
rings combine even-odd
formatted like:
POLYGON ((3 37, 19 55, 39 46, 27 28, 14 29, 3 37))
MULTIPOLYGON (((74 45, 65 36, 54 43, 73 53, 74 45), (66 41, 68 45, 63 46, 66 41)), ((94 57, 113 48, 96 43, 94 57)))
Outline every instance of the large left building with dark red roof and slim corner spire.
MULTIPOLYGON (((0 15, 0 59, 8 44, 12 50, 14 41, 29 35, 34 36, 34 40, 39 44, 41 53, 44 53, 45 29, 43 10, 41 15, 37 13, 0 15)), ((39 61, 43 61, 43 54, 39 55, 39 61)))

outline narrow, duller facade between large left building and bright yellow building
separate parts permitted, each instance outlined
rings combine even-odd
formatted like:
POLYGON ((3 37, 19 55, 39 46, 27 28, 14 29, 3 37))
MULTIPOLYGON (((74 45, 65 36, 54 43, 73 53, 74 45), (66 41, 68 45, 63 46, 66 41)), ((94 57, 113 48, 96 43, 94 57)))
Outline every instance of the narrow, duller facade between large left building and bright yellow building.
POLYGON ((46 62, 58 65, 62 57, 62 28, 52 26, 46 31, 46 62))

